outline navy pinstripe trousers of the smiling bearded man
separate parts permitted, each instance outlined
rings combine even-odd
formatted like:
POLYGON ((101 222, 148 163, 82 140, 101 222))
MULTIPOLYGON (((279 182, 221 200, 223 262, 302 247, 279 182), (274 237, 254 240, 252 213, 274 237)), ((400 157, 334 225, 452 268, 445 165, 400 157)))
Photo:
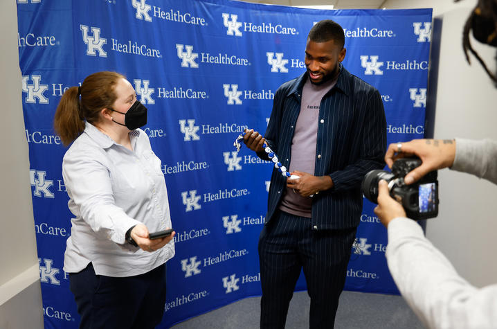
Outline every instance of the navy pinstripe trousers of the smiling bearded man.
POLYGON ((310 219, 278 211, 259 238, 260 328, 284 328, 303 268, 311 298, 309 328, 333 328, 356 228, 312 231, 310 219))

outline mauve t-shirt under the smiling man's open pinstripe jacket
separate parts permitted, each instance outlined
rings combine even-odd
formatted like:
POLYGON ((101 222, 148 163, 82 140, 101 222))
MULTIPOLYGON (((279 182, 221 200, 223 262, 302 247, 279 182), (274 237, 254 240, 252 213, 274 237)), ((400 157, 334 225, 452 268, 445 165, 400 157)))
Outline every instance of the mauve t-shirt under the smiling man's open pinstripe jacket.
MULTIPOLYGON (((293 139, 291 140, 291 160, 289 172, 299 170, 314 175, 316 165, 316 141, 318 138, 319 106, 323 96, 336 85, 336 80, 323 85, 314 85, 309 78, 302 88, 302 103, 298 114, 293 139)), ((280 210, 292 215, 311 217, 311 197, 302 197, 287 188, 280 204, 280 210)))

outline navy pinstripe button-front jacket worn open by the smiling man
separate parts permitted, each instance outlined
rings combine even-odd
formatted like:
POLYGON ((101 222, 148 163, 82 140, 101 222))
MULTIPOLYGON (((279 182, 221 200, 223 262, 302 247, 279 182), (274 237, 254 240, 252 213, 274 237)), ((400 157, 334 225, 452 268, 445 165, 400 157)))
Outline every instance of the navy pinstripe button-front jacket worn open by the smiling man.
MULTIPOLYGON (((336 85, 323 96, 319 108, 315 176, 329 175, 333 188, 312 199, 311 228, 347 229, 359 225, 363 197, 361 181, 373 169, 385 166, 386 119, 377 89, 350 74, 340 64, 336 85)), ((291 140, 300 112, 302 87, 308 73, 285 82, 275 92, 265 138, 289 168, 291 140)), ((258 154, 267 159, 264 154, 258 154)), ((278 208, 286 179, 273 170, 266 223, 278 208)))

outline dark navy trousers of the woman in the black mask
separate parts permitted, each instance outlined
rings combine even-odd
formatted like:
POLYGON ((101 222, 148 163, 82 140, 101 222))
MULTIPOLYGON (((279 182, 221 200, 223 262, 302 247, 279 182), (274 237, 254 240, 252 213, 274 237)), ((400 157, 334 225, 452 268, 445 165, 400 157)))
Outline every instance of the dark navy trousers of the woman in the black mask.
POLYGON ((165 308, 165 264, 138 276, 96 275, 93 265, 69 274, 80 328, 154 328, 165 308))

